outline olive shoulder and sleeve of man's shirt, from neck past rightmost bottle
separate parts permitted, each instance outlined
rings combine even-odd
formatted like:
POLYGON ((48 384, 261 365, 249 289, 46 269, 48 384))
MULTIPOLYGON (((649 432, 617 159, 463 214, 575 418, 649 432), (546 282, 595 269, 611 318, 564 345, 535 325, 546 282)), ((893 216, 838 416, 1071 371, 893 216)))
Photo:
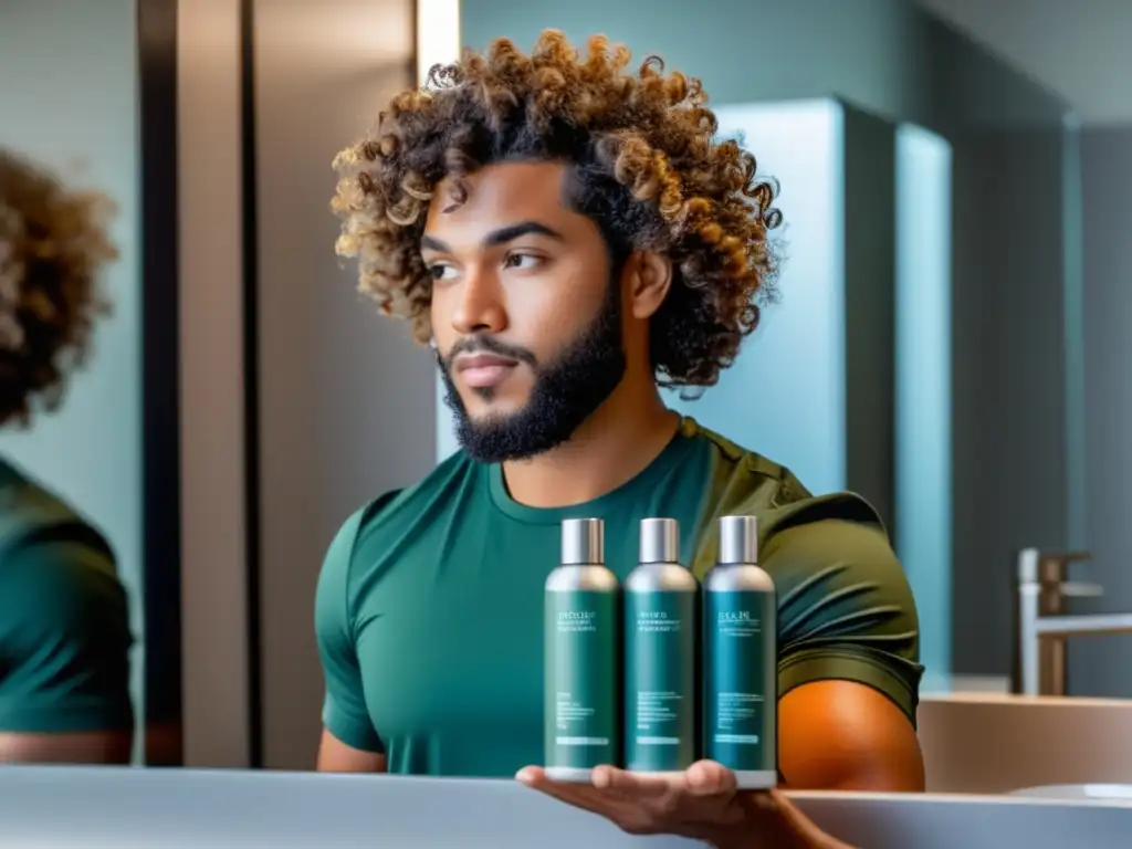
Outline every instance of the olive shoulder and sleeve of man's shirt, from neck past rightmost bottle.
POLYGON ((814 496, 789 470, 734 443, 714 448, 696 571, 718 554, 724 515, 758 521, 758 559, 778 595, 780 686, 860 680, 914 718, 919 675, 916 602, 877 511, 855 492, 814 496))

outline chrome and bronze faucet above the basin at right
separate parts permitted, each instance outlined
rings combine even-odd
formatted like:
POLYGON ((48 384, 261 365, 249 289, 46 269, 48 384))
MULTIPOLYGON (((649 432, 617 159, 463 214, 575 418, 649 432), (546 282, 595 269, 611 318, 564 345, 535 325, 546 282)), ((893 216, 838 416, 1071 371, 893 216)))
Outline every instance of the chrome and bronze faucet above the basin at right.
POLYGON ((1099 584, 1069 580, 1070 564, 1089 559, 1091 556, 1087 551, 1053 554, 1027 548, 1019 552, 1015 693, 1065 695, 1067 637, 1132 633, 1132 614, 1064 614, 1065 599, 1104 595, 1099 584))

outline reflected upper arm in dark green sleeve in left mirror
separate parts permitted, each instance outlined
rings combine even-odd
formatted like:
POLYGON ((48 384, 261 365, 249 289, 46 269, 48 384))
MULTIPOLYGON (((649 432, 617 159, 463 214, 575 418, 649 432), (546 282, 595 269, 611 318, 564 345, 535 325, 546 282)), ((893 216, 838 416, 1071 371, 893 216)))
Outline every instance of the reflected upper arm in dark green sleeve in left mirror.
POLYGON ((132 638, 109 549, 24 546, 0 573, 0 762, 129 763, 132 638))

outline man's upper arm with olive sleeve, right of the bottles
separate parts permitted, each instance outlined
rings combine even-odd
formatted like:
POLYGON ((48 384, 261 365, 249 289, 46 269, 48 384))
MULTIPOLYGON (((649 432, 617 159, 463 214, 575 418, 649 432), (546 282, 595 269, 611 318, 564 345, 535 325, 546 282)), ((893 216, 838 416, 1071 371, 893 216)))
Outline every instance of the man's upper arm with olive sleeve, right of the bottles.
POLYGON ((880 526, 840 520, 774 534, 779 756, 795 789, 923 790, 921 667, 911 590, 880 526))

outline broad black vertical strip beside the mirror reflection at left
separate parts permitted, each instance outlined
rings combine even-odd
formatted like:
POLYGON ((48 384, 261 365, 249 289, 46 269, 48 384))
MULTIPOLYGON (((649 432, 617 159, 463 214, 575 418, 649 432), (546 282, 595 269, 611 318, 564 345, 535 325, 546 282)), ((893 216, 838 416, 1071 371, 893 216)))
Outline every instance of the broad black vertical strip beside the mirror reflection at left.
POLYGON ((138 0, 146 761, 182 762, 177 0, 138 0))

